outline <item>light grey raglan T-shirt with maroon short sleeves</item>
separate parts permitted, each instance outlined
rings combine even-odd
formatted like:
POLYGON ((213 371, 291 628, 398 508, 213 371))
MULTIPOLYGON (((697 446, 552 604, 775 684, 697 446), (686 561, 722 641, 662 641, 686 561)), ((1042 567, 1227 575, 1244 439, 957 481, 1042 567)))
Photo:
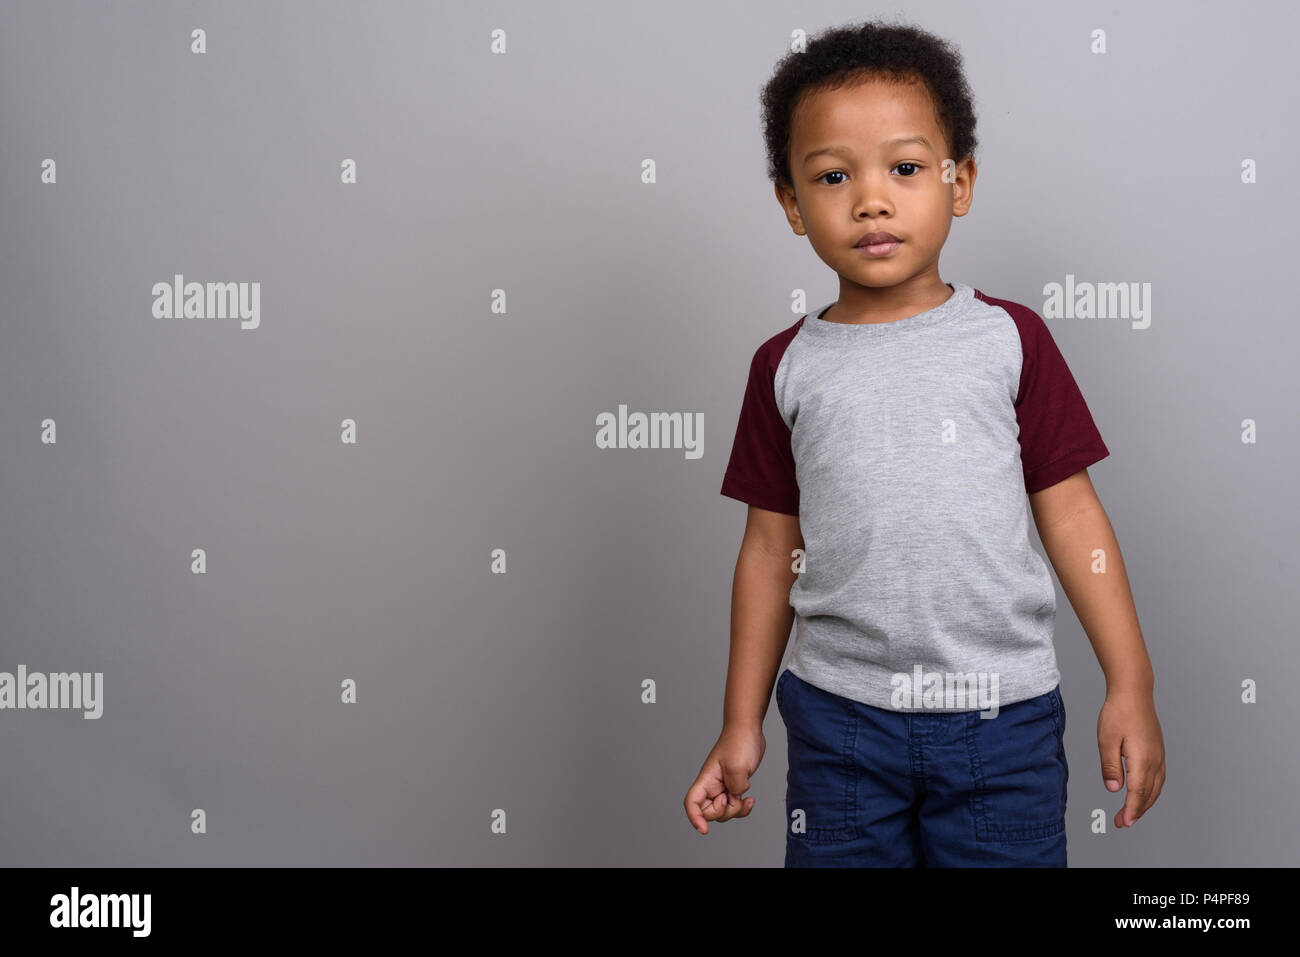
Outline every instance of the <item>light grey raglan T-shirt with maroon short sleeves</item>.
POLYGON ((1057 687, 1028 493, 1110 454, 1043 319, 949 286, 893 322, 831 303, 759 346, 722 486, 800 518, 786 667, 890 710, 920 710, 894 697, 918 666, 997 675, 1000 707, 1057 687))

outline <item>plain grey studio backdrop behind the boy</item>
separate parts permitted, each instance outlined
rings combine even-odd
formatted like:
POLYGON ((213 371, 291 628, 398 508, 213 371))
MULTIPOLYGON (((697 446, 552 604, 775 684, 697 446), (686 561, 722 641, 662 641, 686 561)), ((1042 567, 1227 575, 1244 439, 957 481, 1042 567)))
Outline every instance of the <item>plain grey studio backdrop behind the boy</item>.
POLYGON ((1297 862, 1294 8, 0 9, 0 670, 104 672, 99 720, 0 713, 4 863, 780 865, 775 706, 754 813, 701 837, 681 807, 748 364, 793 290, 838 287, 772 198, 758 94, 792 30, 898 13, 978 98, 942 277, 1040 311, 1066 273, 1153 289, 1147 330, 1049 320, 1112 450, 1169 765, 1115 831, 1060 596, 1071 865, 1297 862), (261 328, 152 319, 177 272, 260 281, 261 328), (702 412, 703 458, 597 449, 619 403, 702 412))

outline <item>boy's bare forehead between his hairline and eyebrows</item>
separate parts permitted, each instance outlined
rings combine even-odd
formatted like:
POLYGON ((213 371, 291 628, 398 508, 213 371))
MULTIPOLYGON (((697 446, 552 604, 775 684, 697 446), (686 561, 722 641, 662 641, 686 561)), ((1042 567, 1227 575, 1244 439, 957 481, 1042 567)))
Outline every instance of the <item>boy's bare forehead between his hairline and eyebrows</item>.
POLYGON ((900 131, 920 133, 936 146, 942 139, 926 86, 859 81, 803 96, 790 124, 790 152, 798 157, 831 140, 870 144, 900 131))

